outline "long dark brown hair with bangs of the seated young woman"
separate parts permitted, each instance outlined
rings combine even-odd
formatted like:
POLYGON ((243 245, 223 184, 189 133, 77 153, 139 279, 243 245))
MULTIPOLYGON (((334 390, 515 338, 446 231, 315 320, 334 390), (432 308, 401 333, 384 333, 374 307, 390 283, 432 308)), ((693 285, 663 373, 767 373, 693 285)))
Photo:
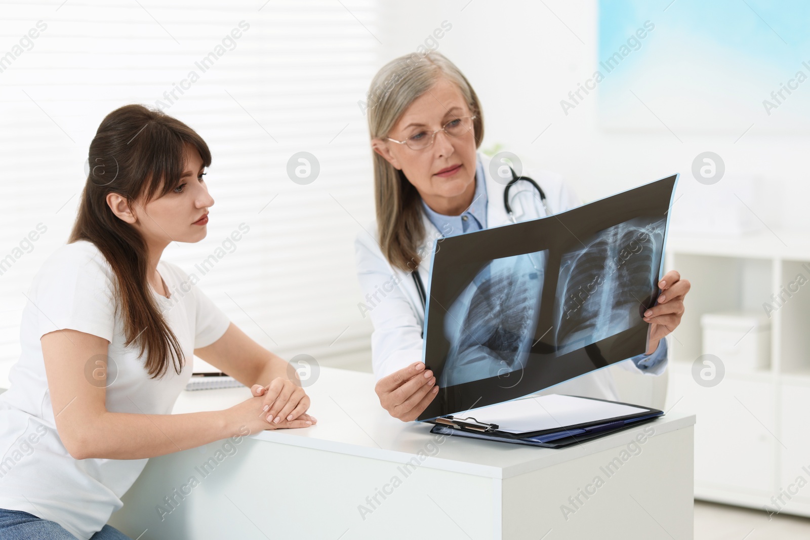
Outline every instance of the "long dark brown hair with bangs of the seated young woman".
POLYGON ((152 378, 164 376, 169 362, 179 374, 185 359, 151 295, 147 244, 137 229, 113 214, 106 198, 118 193, 133 206, 142 197, 150 201, 175 189, 188 146, 199 152, 206 167, 211 165, 203 138, 181 121, 138 104, 109 113, 90 143, 90 170, 68 240, 92 242, 107 259, 125 344, 135 343, 139 354, 146 354, 144 367, 152 378))

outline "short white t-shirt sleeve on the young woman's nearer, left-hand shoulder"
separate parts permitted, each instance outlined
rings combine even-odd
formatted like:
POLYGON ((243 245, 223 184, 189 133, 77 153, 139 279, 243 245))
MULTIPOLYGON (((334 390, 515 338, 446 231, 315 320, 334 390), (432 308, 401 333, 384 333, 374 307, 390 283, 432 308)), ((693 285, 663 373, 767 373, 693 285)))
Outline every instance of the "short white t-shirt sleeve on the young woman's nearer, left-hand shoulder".
POLYGON ((112 269, 90 242, 67 244, 54 252, 36 274, 28 301, 37 314, 37 338, 70 329, 113 341, 112 269))

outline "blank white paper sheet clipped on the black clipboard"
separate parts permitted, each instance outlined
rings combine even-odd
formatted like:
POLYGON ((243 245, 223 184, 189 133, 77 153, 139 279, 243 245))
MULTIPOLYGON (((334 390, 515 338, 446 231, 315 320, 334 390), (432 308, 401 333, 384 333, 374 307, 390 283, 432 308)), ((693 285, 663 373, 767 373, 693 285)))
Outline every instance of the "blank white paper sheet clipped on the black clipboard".
POLYGON ((644 411, 646 409, 637 406, 551 393, 539 398, 516 399, 468 410, 454 415, 454 418, 472 417, 479 422, 497 423, 501 432, 524 433, 596 422, 644 411))

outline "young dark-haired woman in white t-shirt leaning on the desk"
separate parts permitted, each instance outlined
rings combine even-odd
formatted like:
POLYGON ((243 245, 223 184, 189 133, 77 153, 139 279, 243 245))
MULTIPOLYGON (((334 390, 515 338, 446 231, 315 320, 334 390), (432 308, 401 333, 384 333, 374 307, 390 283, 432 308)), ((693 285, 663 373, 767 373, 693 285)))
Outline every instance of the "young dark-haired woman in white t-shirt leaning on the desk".
POLYGON ((0 395, 6 540, 127 538, 105 524, 148 457, 316 422, 288 363, 160 260, 169 242, 206 236, 214 199, 203 139, 164 113, 127 105, 101 122, 89 164, 70 240, 28 291, 22 355, 0 395), (193 354, 253 397, 171 415, 193 354))

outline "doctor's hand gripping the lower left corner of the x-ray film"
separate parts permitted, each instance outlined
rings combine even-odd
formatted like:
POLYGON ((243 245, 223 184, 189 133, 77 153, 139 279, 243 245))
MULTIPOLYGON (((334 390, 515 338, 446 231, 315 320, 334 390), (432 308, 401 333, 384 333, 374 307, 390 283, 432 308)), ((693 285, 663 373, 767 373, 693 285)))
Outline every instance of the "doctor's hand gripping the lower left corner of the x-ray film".
POLYGON ((428 408, 439 387, 433 372, 425 370, 424 363, 416 362, 382 377, 374 391, 388 414, 403 422, 411 422, 428 408))

